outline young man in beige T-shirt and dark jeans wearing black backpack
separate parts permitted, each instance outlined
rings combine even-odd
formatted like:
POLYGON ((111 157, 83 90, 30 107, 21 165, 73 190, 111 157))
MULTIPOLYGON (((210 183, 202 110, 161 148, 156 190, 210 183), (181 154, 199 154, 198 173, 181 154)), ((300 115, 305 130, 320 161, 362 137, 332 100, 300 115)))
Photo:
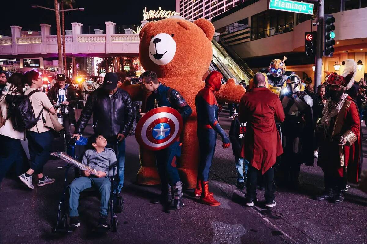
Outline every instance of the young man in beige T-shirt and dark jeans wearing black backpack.
MULTIPOLYGON (((28 121, 30 123, 25 123, 24 125, 29 147, 30 168, 27 172, 20 175, 19 179, 21 179, 21 181, 30 189, 33 189, 32 174, 37 174, 39 179, 37 184, 38 186, 44 186, 55 182, 55 179, 48 178, 46 175, 43 175, 42 172, 43 166, 50 157, 51 143, 54 139, 50 128, 45 127, 45 118, 48 112, 51 112, 54 115, 56 111, 47 95, 38 90, 42 87, 42 78, 38 72, 28 71, 24 74, 24 79, 26 84, 29 86, 29 89, 26 90, 24 94, 28 96, 28 101, 33 111, 33 120, 30 119, 30 121, 28 121), (32 124, 34 124, 34 126, 30 127, 32 124)), ((29 111, 27 110, 23 112, 29 111)), ((32 116, 28 116, 28 119, 32 116)), ((27 122, 24 117, 23 121, 27 122)))

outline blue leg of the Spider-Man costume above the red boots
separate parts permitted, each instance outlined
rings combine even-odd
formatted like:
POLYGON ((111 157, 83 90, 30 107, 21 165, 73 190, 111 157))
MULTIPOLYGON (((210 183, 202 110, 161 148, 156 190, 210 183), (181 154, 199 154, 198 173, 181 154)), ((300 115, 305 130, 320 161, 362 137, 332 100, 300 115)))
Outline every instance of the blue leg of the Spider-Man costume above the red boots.
POLYGON ((208 181, 211 162, 214 157, 217 132, 214 129, 200 129, 197 131, 200 148, 200 162, 197 176, 202 181, 208 181))

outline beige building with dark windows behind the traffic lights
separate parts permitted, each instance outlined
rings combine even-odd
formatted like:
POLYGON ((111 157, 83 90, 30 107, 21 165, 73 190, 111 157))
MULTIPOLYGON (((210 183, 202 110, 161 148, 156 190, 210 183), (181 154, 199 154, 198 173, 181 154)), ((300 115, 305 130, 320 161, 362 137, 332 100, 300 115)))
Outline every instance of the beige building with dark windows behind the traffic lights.
MULTIPOLYGON (((294 14, 269 10, 268 0, 245 1, 211 19, 216 32, 221 33, 236 53, 257 72, 269 66, 272 59, 287 56, 287 70, 301 78, 314 79, 314 60, 305 54, 305 32, 316 31, 312 23, 315 15, 294 14)), ((335 63, 346 59, 360 61, 356 80, 367 77, 367 1, 325 0, 325 14, 333 14, 335 21, 333 57, 323 58, 323 71, 343 72, 335 63)), ((316 6, 315 11, 316 13, 316 6)))

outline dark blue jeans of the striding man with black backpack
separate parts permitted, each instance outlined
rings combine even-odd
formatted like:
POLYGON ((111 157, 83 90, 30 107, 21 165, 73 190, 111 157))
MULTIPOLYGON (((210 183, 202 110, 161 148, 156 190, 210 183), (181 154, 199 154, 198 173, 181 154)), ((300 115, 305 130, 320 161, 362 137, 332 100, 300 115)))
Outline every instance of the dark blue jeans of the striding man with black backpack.
POLYGON ((43 166, 50 158, 51 144, 54 136, 52 131, 37 133, 34 131, 26 131, 28 140, 30 168, 35 174, 40 174, 43 171, 43 166))

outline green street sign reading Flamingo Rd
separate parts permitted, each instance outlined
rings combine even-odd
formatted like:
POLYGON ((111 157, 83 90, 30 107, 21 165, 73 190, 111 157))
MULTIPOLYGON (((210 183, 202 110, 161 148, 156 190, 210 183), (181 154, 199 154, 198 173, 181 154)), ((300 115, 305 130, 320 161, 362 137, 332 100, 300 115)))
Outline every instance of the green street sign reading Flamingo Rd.
POLYGON ((299 14, 313 14, 313 6, 313 3, 303 3, 291 0, 270 0, 269 2, 269 9, 299 14))

